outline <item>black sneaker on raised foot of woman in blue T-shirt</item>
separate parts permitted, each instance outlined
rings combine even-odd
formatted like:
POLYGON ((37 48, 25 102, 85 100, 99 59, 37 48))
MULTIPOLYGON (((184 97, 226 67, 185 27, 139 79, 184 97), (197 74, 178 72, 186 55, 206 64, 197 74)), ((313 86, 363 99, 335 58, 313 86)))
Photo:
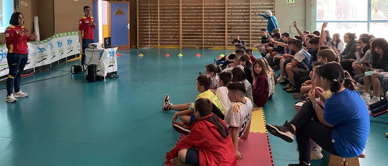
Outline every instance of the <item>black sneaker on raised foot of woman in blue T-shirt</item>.
POLYGON ((286 121, 283 126, 266 124, 265 127, 272 135, 282 138, 287 142, 294 142, 295 131, 292 128, 291 124, 288 123, 288 121, 286 121))

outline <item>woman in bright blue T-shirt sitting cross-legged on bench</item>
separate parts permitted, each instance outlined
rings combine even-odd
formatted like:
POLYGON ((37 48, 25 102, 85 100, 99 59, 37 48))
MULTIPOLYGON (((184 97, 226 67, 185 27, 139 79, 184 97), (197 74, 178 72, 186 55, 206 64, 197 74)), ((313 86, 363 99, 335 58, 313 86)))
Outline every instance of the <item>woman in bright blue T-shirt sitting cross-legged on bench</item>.
POLYGON ((310 138, 322 149, 344 158, 362 154, 369 135, 369 113, 364 100, 354 90, 354 80, 344 74, 340 64, 328 62, 318 69, 322 85, 333 95, 326 99, 321 88, 308 93, 311 100, 305 102, 294 118, 283 126, 267 124, 267 130, 299 147, 300 163, 289 166, 310 165, 310 138), (324 109, 315 100, 324 102, 324 109), (311 120, 311 118, 314 119, 311 120))

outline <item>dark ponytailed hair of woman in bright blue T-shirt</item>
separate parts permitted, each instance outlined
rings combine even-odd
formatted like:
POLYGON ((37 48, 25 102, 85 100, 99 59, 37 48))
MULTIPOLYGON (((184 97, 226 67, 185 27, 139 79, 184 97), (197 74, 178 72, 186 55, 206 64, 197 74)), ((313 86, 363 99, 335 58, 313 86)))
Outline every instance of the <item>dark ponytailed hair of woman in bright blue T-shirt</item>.
POLYGON ((347 71, 344 71, 340 64, 336 62, 327 62, 318 69, 318 74, 333 83, 330 86, 331 92, 337 92, 343 84, 345 88, 354 90, 355 81, 350 77, 347 71))

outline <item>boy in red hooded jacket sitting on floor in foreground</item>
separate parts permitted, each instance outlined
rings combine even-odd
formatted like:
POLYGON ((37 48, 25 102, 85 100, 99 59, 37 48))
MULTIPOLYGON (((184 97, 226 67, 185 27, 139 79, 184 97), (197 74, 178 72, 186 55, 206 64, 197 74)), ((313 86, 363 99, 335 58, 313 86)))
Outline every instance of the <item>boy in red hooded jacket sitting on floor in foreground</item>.
POLYGON ((211 113, 211 101, 199 98, 194 105, 197 120, 190 124, 189 135, 166 154, 165 163, 174 158, 174 165, 235 166, 237 156, 232 138, 225 123, 211 113))

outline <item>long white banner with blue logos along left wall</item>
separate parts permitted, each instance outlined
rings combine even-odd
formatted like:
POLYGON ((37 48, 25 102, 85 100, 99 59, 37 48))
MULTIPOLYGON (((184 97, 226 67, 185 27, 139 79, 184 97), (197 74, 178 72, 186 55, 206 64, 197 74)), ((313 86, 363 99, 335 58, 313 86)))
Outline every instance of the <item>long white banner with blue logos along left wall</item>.
MULTIPOLYGON (((24 69, 51 64, 71 55, 80 54, 81 45, 78 31, 59 33, 42 41, 30 41, 28 62, 24 69)), ((7 47, 0 45, 0 77, 8 75, 7 47)))

